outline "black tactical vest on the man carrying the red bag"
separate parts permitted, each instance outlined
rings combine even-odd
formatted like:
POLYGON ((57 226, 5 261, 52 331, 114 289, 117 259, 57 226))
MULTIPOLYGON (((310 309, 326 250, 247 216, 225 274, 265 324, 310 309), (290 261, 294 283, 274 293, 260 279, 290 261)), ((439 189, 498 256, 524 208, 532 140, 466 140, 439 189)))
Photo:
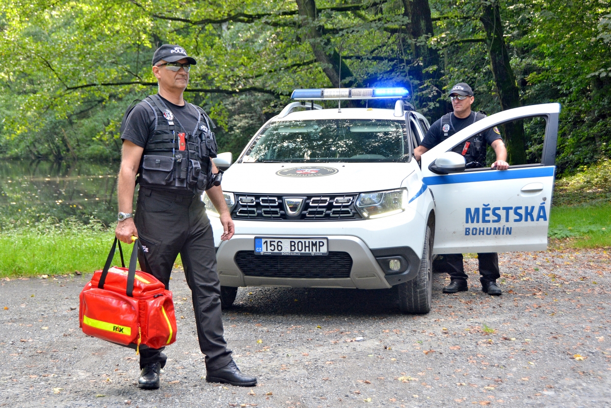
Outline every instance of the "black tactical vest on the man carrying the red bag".
POLYGON ((149 95, 146 103, 155 113, 155 130, 149 136, 140 162, 138 181, 142 187, 201 194, 212 187, 210 159, 218 147, 211 130, 214 123, 196 105, 195 129, 185 129, 158 95, 149 95))

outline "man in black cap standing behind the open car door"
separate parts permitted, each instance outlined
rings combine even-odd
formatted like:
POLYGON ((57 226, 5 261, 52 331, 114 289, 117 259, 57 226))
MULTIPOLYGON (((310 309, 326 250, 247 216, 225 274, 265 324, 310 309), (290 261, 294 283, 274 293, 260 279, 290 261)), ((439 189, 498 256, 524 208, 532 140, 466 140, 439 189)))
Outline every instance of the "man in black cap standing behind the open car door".
MULTIPOLYGON (((452 87, 450 100, 454 109, 453 113, 445 114, 431 125, 420 146, 414 149, 416 160, 420 161, 420 156, 423 153, 456 132, 486 117, 483 113, 471 111, 471 105, 475 98, 471 87, 466 83, 458 83, 452 87)), ((496 161, 492 163, 491 168, 507 170, 509 168, 506 161, 507 149, 505 149, 505 144, 497 127, 475 135, 464 144, 456 146, 453 151, 465 157, 466 168, 482 168, 486 163, 486 144, 492 146, 496 154, 496 161)), ((467 291, 467 274, 464 273, 463 254, 444 254, 442 256, 442 261, 445 264, 444 269, 450 275, 450 284, 444 287, 444 293, 467 291)), ((496 285, 496 280, 500 278, 498 254, 494 252, 478 253, 477 258, 480 263, 481 290, 490 295, 500 295, 500 287, 496 285)))

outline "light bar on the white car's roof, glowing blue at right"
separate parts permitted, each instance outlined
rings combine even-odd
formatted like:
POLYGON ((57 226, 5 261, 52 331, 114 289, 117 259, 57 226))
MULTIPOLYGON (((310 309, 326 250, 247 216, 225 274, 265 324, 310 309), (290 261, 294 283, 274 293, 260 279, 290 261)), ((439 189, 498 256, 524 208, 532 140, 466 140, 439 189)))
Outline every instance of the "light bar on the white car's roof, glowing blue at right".
POLYGON ((295 89, 294 100, 400 99, 409 97, 404 87, 295 89))

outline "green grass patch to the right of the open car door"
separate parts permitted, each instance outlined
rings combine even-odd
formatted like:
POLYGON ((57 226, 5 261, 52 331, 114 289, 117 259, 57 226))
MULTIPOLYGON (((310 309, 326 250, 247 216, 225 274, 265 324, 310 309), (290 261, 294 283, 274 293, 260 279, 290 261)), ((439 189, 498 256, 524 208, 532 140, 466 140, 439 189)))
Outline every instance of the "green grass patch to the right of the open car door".
POLYGON ((611 204, 554 206, 548 236, 565 247, 611 247, 611 204))

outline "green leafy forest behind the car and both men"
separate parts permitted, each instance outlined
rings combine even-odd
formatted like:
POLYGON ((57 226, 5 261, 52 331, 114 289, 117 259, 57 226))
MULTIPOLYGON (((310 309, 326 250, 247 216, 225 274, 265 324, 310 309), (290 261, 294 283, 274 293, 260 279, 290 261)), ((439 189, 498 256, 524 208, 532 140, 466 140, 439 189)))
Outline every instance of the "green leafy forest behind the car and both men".
MULTIPOLYGON (((558 174, 611 149, 606 0, 7 0, 0 35, 3 158, 118 160, 123 113, 156 92, 162 43, 196 57, 186 98, 234 157, 293 89, 340 78, 408 87, 430 122, 459 81, 488 114, 559 102, 558 174)), ((511 164, 539 160, 528 128, 504 136, 511 164)))

